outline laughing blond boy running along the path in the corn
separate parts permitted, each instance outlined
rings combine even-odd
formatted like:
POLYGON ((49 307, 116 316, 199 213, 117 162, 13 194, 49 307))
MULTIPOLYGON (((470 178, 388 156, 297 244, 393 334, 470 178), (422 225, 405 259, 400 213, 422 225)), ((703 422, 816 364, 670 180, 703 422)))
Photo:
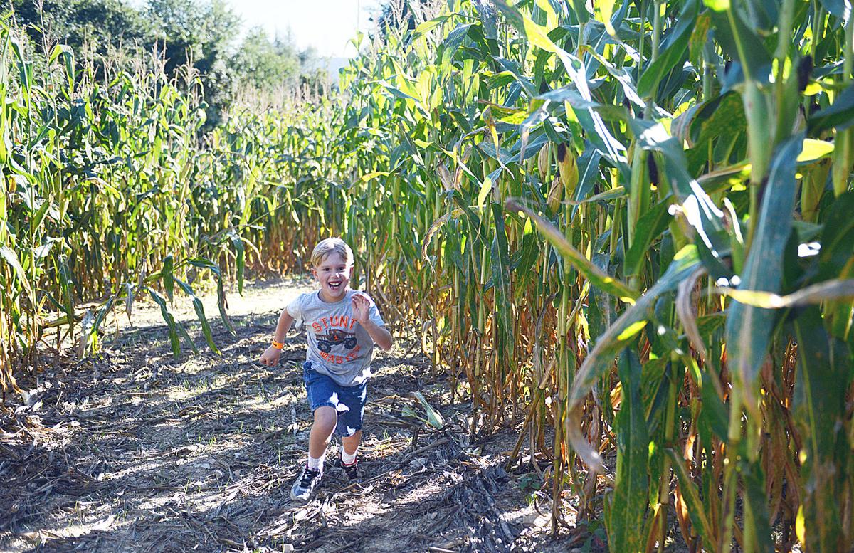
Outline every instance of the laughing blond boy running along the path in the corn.
POLYGON ((323 475, 326 447, 332 433, 342 436, 336 466, 358 480, 356 451, 362 438, 366 384, 371 377, 374 342, 387 350, 392 337, 374 302, 349 288, 353 250, 341 238, 327 238, 312 252, 312 275, 320 289, 301 294, 278 317, 272 346, 260 363, 272 367, 282 353, 291 323, 305 323, 308 335, 302 377, 314 423, 308 438, 308 462, 290 489, 290 497, 307 501, 323 475))

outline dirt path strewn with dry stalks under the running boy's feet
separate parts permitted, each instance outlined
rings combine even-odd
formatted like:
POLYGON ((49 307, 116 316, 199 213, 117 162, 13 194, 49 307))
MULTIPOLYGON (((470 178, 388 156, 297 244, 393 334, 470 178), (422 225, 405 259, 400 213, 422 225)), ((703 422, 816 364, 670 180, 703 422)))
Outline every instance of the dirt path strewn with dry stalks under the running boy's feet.
POLYGON ((0 406, 0 550, 602 549, 597 536, 550 536, 550 501, 530 490, 529 469, 503 469, 516 431, 470 441, 471 405, 449 405, 447 382, 429 378, 405 333, 375 357, 363 481, 327 468, 312 502, 292 502, 311 421, 304 333, 290 332, 278 367, 257 359, 278 313, 309 285, 257 282, 229 294, 237 336, 206 297, 221 355, 205 346, 189 302, 174 312, 200 353, 184 348, 178 359, 159 309, 137 304, 133 325, 121 315, 98 358, 19 382, 26 400, 0 406), (442 428, 422 420, 414 392, 442 428))

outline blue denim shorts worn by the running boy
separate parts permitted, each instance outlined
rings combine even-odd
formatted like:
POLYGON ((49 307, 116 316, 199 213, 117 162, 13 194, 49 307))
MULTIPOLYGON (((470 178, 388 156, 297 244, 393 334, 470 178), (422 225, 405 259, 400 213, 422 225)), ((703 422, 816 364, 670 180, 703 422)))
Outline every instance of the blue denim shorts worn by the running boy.
POLYGON ((313 370, 311 361, 302 365, 302 381, 306 384, 308 405, 311 405, 312 412, 325 405, 335 408, 338 415, 336 434, 352 436, 362 429, 368 391, 366 381, 357 386, 342 386, 329 376, 313 370))

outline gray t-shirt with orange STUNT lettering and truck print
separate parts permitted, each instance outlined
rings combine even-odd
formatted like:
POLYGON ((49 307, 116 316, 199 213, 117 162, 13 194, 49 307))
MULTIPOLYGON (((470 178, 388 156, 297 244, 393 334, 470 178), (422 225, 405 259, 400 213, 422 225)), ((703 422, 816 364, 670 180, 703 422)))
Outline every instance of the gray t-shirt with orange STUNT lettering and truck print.
POLYGON ((311 362, 312 369, 342 386, 357 386, 371 377, 374 342, 353 317, 354 294, 371 301, 368 316, 377 326, 385 326, 373 300, 356 290, 348 290, 336 303, 321 300, 319 292, 300 294, 287 306, 296 323, 306 325, 306 361, 311 362))

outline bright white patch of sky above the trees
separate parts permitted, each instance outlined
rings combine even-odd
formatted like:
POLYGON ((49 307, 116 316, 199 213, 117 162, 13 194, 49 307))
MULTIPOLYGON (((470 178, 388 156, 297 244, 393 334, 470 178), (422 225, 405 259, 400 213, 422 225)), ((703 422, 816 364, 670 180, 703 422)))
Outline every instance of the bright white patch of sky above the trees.
POLYGON ((353 57, 348 45, 356 29, 371 29, 368 18, 380 0, 225 0, 243 19, 244 30, 260 26, 271 38, 290 38, 299 49, 313 46, 324 57, 353 57))

